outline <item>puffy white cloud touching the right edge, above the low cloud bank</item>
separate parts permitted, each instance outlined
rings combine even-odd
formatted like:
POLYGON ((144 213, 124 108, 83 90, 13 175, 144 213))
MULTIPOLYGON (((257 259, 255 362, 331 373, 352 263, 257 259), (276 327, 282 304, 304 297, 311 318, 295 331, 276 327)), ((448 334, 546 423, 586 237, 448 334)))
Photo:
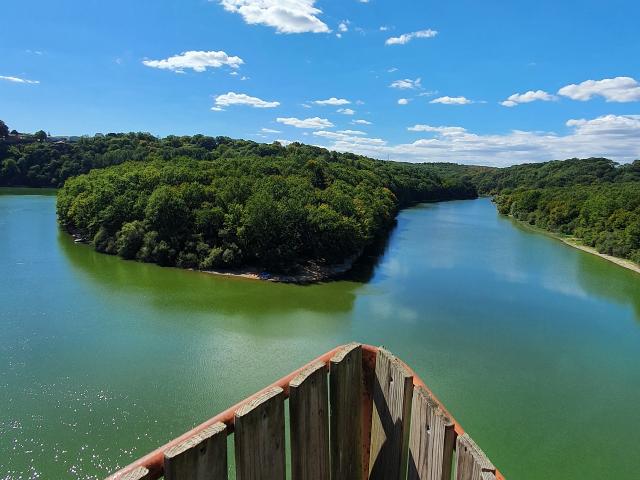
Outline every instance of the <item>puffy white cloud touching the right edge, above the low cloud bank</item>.
POLYGON ((594 96, 601 96, 607 102, 637 102, 640 101, 640 83, 631 77, 586 80, 562 87, 558 95, 583 102, 594 96))

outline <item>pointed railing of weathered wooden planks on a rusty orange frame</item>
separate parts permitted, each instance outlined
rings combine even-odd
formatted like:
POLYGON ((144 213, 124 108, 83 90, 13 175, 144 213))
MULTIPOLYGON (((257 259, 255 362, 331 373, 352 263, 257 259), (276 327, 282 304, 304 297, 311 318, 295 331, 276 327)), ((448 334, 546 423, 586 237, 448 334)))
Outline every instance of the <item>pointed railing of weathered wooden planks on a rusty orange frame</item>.
POLYGON ((108 480, 504 480, 424 382, 380 347, 337 347, 108 480))

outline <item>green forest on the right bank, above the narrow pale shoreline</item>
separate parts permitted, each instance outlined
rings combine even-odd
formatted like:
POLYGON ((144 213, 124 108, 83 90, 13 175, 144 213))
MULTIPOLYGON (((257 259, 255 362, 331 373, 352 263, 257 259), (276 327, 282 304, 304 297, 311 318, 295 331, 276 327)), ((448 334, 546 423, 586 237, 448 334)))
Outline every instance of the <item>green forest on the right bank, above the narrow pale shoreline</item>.
POLYGON ((500 213, 640 263, 640 160, 570 159, 469 172, 500 213))

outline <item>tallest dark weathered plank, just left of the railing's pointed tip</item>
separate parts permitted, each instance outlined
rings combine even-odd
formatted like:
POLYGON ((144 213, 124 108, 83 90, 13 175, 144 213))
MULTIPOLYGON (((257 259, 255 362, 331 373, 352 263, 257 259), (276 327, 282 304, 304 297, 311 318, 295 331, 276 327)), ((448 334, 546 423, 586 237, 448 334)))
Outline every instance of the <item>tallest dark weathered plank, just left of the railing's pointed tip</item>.
POLYGON ((362 346, 350 344, 330 362, 332 480, 362 478, 362 346))

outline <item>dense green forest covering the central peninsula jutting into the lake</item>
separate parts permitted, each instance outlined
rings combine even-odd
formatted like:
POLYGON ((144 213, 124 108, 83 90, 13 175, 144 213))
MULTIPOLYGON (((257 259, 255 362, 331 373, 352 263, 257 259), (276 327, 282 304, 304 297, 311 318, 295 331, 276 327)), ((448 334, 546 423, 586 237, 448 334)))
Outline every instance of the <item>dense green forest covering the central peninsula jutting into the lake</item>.
MULTIPOLYGON (((17 150, 31 155, 33 148, 57 147, 17 150)), ((58 192, 61 225, 98 251, 183 268, 287 272, 309 262, 341 263, 384 235, 402 206, 477 196, 470 183, 443 178, 429 165, 299 143, 126 134, 65 148, 93 151, 93 168, 79 152, 30 167, 60 172, 56 181, 70 170, 90 170, 58 192), (130 152, 139 161, 96 168, 130 152)))

